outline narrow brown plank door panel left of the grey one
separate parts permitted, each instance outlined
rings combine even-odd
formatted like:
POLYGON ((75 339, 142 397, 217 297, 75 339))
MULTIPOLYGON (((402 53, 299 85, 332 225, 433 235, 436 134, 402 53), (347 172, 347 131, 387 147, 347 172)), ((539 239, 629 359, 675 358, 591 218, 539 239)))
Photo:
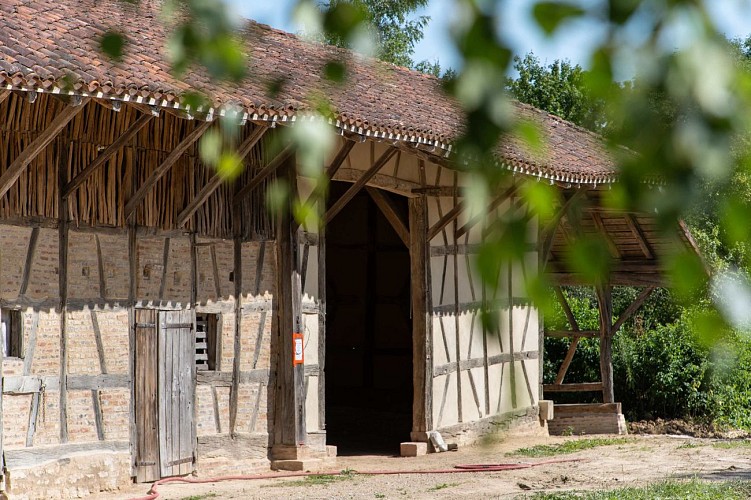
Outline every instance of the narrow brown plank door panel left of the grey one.
POLYGON ((159 479, 157 412, 157 311, 136 309, 136 353, 133 373, 136 419, 135 465, 139 483, 159 479))

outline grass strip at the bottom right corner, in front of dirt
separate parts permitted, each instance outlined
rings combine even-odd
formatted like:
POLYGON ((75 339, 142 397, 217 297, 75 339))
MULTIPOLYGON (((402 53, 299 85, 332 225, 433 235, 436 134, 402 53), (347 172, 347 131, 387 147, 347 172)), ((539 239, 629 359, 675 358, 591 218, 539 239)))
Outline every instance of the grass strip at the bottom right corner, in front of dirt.
POLYGON ((668 480, 643 488, 618 488, 610 491, 538 493, 527 497, 535 500, 741 500, 751 498, 751 482, 722 481, 702 482, 668 480))

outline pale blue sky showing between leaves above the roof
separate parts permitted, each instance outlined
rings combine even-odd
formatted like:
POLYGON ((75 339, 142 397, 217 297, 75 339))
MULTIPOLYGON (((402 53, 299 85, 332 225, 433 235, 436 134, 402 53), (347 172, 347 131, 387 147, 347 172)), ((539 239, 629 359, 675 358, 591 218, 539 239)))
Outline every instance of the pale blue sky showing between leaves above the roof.
MULTIPOLYGON (((581 0, 592 3, 596 0, 581 0)), ((292 22, 295 0, 227 0, 241 16, 255 19, 284 31, 296 32, 292 22)), ((427 8, 417 14, 430 16, 424 38, 415 48, 413 60, 439 61, 442 68, 458 67, 459 58, 452 46, 449 30, 456 16, 455 0, 430 0, 427 8)), ((546 38, 536 27, 531 15, 533 0, 505 0, 505 16, 501 36, 514 52, 534 54, 543 63, 567 59, 588 67, 587 55, 603 36, 603 30, 591 22, 577 22, 566 26, 554 39, 546 38)), ((711 14, 720 30, 728 38, 745 38, 751 35, 751 0, 707 0, 711 14)))

